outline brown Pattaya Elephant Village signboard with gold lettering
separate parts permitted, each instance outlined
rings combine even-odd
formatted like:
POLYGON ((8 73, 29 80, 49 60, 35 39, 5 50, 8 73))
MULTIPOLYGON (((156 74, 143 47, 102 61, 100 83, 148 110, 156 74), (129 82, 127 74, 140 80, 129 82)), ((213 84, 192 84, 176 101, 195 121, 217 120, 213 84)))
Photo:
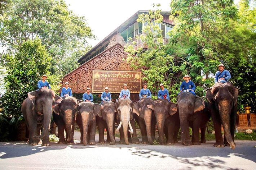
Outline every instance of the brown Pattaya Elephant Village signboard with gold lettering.
POLYGON ((127 84, 130 93, 140 93, 141 72, 92 70, 93 93, 102 93, 105 87, 109 88, 110 93, 120 93, 124 84, 127 84))

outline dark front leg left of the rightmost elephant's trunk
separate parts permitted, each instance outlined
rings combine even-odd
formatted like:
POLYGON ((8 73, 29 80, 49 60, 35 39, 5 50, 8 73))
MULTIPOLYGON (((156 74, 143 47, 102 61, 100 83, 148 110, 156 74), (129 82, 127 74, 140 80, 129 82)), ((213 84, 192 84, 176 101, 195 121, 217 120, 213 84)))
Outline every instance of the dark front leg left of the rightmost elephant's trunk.
POLYGON ((216 109, 212 109, 212 121, 215 130, 215 144, 214 147, 225 147, 224 141, 221 134, 221 119, 219 112, 216 109))

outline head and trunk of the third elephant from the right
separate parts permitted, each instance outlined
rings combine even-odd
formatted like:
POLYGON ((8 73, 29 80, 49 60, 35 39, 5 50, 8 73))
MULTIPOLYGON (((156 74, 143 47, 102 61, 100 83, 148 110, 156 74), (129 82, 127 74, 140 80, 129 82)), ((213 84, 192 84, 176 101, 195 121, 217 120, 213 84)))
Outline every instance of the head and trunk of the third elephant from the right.
POLYGON ((154 111, 156 117, 156 123, 158 127, 159 142, 160 144, 165 144, 164 142, 164 121, 169 115, 174 115, 177 111, 176 104, 169 102, 166 99, 157 99, 151 105, 147 107, 154 111))

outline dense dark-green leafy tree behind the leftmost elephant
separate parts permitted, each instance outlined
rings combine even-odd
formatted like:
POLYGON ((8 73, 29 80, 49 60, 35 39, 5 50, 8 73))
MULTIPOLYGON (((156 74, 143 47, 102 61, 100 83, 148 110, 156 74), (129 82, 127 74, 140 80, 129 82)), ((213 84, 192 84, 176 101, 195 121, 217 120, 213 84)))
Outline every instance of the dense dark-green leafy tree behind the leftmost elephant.
POLYGON ((36 38, 22 43, 17 53, 7 55, 2 63, 8 69, 8 75, 5 77, 6 92, 0 98, 1 105, 6 116, 17 119, 27 93, 36 90, 41 75, 48 73, 50 57, 40 39, 36 38))

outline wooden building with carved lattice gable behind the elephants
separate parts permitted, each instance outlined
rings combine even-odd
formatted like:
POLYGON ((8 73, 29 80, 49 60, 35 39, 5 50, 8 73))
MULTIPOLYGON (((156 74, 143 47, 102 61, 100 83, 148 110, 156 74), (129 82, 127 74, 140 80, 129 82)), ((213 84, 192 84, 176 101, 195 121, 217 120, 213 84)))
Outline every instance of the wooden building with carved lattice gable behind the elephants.
MULTIPOLYGON (((110 86, 109 92, 111 93, 118 93, 118 91, 120 93, 123 84, 128 83, 131 99, 136 100, 139 90, 142 88, 140 72, 142 68, 133 70, 130 64, 123 59, 127 58, 124 46, 130 43, 128 38, 134 38, 142 33, 144 25, 137 22, 138 14, 142 13, 147 13, 147 11, 138 11, 133 14, 82 56, 78 60, 81 65, 62 77, 62 83, 69 82, 73 93, 85 93, 88 87, 92 89, 92 93, 99 93, 99 90, 104 91, 105 86, 110 86)), ((167 32, 173 28, 173 24, 169 20, 170 12, 162 12, 161 14, 164 18, 159 27, 163 30, 164 42, 167 43, 167 32)), ((141 45, 143 46, 142 42, 137 42, 134 48, 141 45)))

